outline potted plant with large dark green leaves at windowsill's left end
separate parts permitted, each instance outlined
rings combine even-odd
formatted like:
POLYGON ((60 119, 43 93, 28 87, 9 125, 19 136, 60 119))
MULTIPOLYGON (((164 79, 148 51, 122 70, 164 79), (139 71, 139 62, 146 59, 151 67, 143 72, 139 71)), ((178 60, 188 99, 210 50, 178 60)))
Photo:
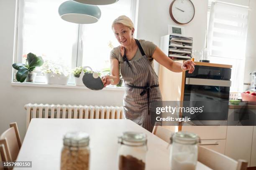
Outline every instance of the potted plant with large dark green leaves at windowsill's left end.
POLYGON ((44 60, 41 56, 36 56, 33 53, 28 53, 26 63, 14 63, 13 68, 18 70, 16 73, 16 80, 19 82, 33 82, 36 77, 36 72, 33 72, 36 67, 40 67, 44 64, 44 60))

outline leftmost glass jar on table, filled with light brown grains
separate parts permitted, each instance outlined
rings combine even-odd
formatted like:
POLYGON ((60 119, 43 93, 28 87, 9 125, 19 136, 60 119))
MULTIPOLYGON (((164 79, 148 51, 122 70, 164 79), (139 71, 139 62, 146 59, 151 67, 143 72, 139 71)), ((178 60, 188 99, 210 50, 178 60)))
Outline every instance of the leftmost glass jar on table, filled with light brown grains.
POLYGON ((63 138, 61 170, 89 170, 89 135, 84 132, 70 132, 63 138))

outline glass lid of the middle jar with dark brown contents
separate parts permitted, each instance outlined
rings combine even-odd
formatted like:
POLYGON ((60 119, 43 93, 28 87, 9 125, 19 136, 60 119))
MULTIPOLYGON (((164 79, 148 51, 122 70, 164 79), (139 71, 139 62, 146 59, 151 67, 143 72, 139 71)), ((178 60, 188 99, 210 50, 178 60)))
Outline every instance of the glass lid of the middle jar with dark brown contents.
POLYGON ((132 143, 146 143, 147 135, 138 132, 124 132, 120 140, 132 143))

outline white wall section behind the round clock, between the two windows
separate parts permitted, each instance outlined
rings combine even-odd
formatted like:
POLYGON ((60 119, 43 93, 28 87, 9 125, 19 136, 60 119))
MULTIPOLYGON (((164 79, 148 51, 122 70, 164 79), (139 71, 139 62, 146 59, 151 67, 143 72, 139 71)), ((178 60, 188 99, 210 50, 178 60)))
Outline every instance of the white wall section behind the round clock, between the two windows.
MULTIPOLYGON (((145 39, 160 45, 160 37, 168 34, 168 24, 177 25, 169 15, 172 0, 139 0, 138 39, 145 39)), ((207 0, 192 0, 195 6, 193 20, 182 25, 184 36, 193 37, 193 50, 202 50, 205 46, 207 27, 207 0)), ((159 64, 154 68, 158 73, 159 64)))

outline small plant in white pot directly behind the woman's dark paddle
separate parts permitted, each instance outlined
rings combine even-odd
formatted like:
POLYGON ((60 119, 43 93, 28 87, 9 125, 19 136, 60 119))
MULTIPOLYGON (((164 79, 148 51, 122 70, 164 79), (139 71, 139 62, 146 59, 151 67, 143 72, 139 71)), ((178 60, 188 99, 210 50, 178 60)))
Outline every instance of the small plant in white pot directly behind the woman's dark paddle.
POLYGON ((92 68, 89 67, 89 66, 75 67, 72 70, 72 73, 73 73, 73 76, 74 76, 74 79, 75 79, 75 85, 84 86, 84 83, 83 83, 83 80, 82 80, 82 78, 84 76, 84 73, 92 73, 92 68), (90 70, 87 70, 86 68, 89 68, 90 70))

